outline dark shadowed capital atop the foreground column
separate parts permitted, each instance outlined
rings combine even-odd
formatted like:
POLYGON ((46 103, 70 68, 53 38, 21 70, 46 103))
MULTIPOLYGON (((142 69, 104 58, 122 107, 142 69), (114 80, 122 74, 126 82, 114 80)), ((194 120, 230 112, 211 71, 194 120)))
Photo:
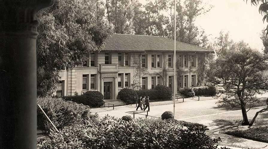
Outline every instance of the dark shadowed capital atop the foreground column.
POLYGON ((54 0, 0 1, 0 34, 31 31, 38 35, 36 13, 54 4, 54 0))

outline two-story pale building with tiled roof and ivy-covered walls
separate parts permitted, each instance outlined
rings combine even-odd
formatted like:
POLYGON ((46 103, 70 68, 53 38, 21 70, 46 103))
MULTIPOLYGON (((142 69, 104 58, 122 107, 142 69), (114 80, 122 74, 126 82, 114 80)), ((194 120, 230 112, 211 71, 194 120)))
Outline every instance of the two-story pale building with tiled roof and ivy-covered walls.
POLYGON ((149 35, 113 34, 101 52, 87 54, 81 67, 62 70, 55 94, 73 96, 75 92, 100 91, 105 99, 117 99, 123 88, 153 89, 157 85, 176 91, 185 86, 196 86, 198 58, 213 50, 176 42, 176 69, 186 73, 174 74, 174 40, 149 35), (189 71, 191 70, 191 71, 189 71))

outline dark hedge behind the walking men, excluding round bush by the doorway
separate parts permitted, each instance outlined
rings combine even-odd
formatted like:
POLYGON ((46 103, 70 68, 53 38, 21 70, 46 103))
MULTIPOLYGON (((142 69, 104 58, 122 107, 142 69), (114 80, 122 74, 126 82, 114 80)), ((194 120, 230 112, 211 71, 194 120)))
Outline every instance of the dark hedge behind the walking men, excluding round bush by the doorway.
POLYGON ((154 89, 144 89, 136 91, 138 97, 150 97, 149 100, 170 100, 172 97, 172 91, 166 86, 156 86, 154 89))

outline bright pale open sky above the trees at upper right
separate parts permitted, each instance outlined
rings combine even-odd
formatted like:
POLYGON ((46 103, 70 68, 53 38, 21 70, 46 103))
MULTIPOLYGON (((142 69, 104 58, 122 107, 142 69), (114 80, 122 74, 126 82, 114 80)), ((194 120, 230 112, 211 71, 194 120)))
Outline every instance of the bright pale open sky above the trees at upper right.
POLYGON ((267 26, 262 22, 263 16, 259 7, 246 4, 243 0, 208 0, 214 7, 205 15, 199 16, 195 24, 202 27, 210 38, 215 38, 219 32, 229 32, 234 41, 245 41, 252 48, 261 51, 261 30, 267 26))

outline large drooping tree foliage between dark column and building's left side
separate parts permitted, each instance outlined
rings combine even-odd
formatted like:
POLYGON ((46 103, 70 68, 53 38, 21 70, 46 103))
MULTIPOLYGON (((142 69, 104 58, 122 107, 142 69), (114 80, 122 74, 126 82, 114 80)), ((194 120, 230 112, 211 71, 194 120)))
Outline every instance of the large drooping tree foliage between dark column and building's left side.
POLYGON ((99 0, 56 0, 37 14, 37 95, 51 96, 59 72, 81 66, 83 54, 102 49, 111 33, 99 0))

